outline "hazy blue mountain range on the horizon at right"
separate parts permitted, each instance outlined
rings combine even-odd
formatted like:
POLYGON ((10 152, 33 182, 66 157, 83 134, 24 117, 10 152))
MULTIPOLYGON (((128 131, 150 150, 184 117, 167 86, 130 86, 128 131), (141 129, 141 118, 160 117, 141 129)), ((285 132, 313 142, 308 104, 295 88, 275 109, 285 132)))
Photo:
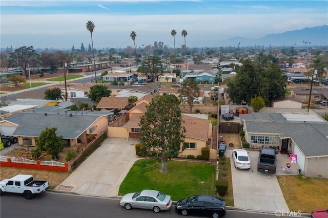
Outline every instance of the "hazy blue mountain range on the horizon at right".
POLYGON ((245 37, 232 37, 227 40, 220 41, 221 46, 237 47, 237 43, 240 42, 241 47, 254 47, 269 45, 275 46, 295 46, 300 47, 314 47, 314 46, 328 46, 328 26, 323 25, 321 27, 304 28, 301 30, 292 30, 278 34, 269 34, 262 38, 250 39, 245 37), (308 41, 308 43, 303 43, 308 41), (311 42, 311 43, 310 43, 311 42))

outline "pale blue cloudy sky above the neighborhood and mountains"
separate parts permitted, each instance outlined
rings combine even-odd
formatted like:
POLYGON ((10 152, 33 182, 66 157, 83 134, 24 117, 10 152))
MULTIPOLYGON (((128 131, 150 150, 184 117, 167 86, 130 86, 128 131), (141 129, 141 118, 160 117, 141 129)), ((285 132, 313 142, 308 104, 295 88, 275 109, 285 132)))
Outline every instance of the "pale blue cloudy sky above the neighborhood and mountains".
POLYGON ((94 48, 143 48, 163 42, 175 46, 219 47, 235 36, 251 39, 268 34, 328 25, 328 1, 215 0, 1 0, 0 47, 88 48, 93 21, 94 48))

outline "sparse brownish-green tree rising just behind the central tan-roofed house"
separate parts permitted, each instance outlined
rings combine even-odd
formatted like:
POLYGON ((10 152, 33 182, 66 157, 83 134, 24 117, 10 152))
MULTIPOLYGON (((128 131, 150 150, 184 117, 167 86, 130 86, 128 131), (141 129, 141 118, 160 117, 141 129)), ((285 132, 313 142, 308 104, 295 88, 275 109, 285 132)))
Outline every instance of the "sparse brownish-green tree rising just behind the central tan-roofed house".
POLYGON ((199 97, 197 82, 192 78, 187 78, 181 82, 181 89, 178 91, 182 103, 189 105, 189 113, 193 112, 194 99, 199 97))

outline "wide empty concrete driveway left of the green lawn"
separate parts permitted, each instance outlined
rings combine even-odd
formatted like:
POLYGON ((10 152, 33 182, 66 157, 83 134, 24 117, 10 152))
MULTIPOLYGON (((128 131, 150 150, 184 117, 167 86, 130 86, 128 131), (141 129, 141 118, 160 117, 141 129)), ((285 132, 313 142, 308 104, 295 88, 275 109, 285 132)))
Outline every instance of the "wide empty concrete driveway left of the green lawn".
POLYGON ((97 197, 117 197, 118 189, 134 162, 138 139, 107 138, 90 157, 56 187, 59 191, 97 197))

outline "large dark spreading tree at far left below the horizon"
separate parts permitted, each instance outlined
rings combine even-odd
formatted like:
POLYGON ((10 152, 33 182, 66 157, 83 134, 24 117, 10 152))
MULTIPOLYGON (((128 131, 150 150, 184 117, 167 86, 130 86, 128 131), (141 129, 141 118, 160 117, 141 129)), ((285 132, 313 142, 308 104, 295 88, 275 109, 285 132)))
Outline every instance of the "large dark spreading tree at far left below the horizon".
POLYGON ((33 62, 38 62, 39 54, 34 50, 33 46, 23 46, 18 49, 15 49, 13 53, 9 56, 10 67, 18 66, 24 70, 25 78, 28 78, 28 66, 33 62))

